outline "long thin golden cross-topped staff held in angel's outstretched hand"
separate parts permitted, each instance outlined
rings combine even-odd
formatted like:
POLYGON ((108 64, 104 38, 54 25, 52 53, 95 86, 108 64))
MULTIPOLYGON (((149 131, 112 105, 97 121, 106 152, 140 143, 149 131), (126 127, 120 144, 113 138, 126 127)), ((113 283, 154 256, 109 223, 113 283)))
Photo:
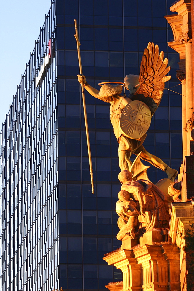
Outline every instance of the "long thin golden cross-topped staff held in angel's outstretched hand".
MULTIPOLYGON (((78 26, 77 26, 77 20, 75 21, 75 28, 76 28, 76 34, 74 34, 76 41, 77 41, 77 49, 78 49, 78 60, 79 60, 79 66, 80 66, 80 75, 82 75, 82 63, 81 63, 81 56, 80 56, 80 41, 78 38, 78 26)), ((91 152, 90 152, 90 143, 89 143, 89 132, 88 132, 88 122, 87 122, 87 114, 86 114, 86 102, 85 102, 85 94, 84 94, 84 84, 81 83, 82 86, 82 99, 83 99, 83 107, 84 107, 84 119, 85 119, 85 127, 86 127, 86 138, 87 138, 87 146, 88 146, 88 157, 89 157, 89 170, 90 170, 90 176, 91 176, 91 189, 92 193, 94 194, 94 182, 93 182, 93 172, 92 172, 92 163, 91 163, 91 152)))

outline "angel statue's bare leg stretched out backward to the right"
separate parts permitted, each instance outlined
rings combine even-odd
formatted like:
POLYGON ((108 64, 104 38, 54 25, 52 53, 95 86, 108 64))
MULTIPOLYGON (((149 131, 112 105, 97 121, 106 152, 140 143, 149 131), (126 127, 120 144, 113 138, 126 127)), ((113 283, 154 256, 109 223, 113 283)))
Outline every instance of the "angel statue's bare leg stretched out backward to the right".
POLYGON ((165 164, 160 158, 150 154, 149 152, 147 152, 147 150, 143 147, 143 145, 141 145, 141 147, 139 147, 134 154, 138 155, 139 152, 141 152, 141 159, 144 161, 149 162, 150 164, 152 164, 153 166, 155 166, 156 168, 161 169, 162 171, 164 171, 167 175, 168 175, 168 179, 170 179, 171 181, 175 180, 175 177, 178 174, 178 171, 175 169, 170 168, 167 164, 165 164))

